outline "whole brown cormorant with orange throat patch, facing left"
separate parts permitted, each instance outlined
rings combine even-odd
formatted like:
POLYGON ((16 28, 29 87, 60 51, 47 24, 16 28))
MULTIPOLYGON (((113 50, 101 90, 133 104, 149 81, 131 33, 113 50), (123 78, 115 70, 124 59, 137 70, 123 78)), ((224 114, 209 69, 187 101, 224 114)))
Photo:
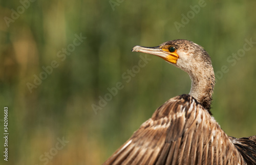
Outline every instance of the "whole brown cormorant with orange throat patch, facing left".
POLYGON ((207 52, 188 40, 135 46, 183 69, 189 95, 169 99, 103 164, 256 164, 256 136, 229 137, 211 116, 215 84, 207 52))

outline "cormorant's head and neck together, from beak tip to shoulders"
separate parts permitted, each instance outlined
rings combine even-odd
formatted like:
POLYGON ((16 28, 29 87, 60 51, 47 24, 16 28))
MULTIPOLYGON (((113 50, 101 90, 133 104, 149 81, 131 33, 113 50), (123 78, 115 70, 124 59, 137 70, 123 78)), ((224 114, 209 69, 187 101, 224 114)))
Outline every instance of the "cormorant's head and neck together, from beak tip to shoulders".
POLYGON ((189 95, 193 96, 211 114, 210 104, 215 75, 210 56, 202 46, 189 40, 176 39, 155 47, 134 46, 132 51, 159 56, 187 72, 191 79, 189 95))

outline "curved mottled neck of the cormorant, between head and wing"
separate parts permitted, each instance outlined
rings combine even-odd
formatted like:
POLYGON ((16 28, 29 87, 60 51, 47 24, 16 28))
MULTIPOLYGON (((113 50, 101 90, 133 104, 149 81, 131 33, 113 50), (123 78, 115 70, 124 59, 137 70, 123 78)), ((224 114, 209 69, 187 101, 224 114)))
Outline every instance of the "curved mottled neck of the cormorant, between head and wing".
POLYGON ((193 96, 211 114, 212 93, 215 85, 214 69, 208 65, 200 71, 188 73, 191 79, 189 95, 193 96))

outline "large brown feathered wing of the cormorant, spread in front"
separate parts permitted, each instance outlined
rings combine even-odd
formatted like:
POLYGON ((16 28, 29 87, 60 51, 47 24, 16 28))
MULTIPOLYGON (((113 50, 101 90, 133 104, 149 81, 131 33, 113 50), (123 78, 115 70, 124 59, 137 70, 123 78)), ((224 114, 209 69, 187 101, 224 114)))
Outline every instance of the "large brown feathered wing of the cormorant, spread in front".
POLYGON ((103 164, 244 164, 231 140, 193 97, 160 106, 103 164))

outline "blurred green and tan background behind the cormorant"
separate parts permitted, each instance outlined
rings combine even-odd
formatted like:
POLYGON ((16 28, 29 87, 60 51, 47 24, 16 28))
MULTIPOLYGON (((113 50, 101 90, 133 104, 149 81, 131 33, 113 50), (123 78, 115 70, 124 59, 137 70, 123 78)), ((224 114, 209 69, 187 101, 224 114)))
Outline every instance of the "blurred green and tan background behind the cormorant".
MULTIPOLYGON (((189 92, 185 72, 150 55, 128 83, 122 77, 145 57, 131 52, 134 45, 179 38, 211 56, 219 77, 212 112, 222 129, 235 137, 255 135, 256 44, 232 57, 245 39, 256 41, 255 7, 249 0, 1 1, 0 133, 7 106, 9 159, 1 156, 0 164, 101 164, 157 107, 189 92), (190 6, 200 3, 204 7, 193 15, 190 6), (189 22, 177 29, 181 14, 190 14, 189 22), (74 46, 76 34, 87 38, 74 46), (58 54, 62 49, 72 50, 66 59, 58 54), (42 75, 54 60, 58 67, 42 75), (224 65, 227 73, 221 72, 224 65), (45 80, 30 92, 27 84, 40 74, 45 80), (117 82, 123 88, 111 98, 108 88, 117 82), (109 101, 95 114, 92 105, 105 95, 109 101), (61 146, 62 138, 68 142, 61 146)), ((0 138, 2 154, 3 144, 0 138)))

